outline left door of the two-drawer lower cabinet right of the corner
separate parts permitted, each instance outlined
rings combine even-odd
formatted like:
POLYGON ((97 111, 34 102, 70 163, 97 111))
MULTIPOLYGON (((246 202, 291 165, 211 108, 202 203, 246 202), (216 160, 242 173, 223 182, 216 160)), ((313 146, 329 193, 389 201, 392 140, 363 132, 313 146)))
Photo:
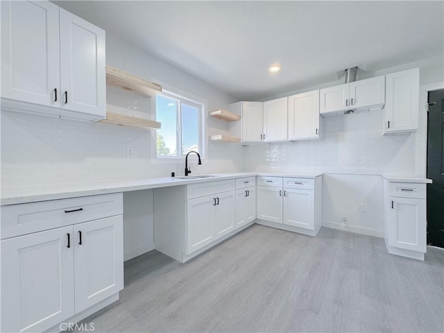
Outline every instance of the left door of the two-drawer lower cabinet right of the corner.
POLYGON ((282 188, 257 187, 257 219, 282 223, 282 188))

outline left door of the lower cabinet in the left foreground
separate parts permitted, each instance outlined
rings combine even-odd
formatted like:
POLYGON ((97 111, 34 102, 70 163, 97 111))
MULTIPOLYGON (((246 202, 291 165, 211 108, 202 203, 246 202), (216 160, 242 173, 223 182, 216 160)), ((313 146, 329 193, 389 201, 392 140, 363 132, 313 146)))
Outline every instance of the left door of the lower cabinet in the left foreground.
POLYGON ((43 332, 74 315, 73 247, 72 226, 1 241, 1 332, 43 332))

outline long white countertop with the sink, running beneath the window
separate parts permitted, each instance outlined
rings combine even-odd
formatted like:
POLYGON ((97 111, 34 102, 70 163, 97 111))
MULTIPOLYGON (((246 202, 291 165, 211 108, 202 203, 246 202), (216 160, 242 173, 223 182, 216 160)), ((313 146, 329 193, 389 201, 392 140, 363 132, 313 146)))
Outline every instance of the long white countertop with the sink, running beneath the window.
MULTIPOLYGON (((194 184, 196 182, 211 182, 229 178, 241 178, 248 176, 276 176, 316 178, 322 173, 312 175, 298 175, 296 173, 212 173, 216 177, 200 179, 180 179, 178 177, 143 178, 135 180, 109 180, 105 182, 83 182, 60 185, 37 185, 22 187, 2 187, 1 205, 15 205, 19 203, 33 203, 36 201, 74 198, 78 196, 95 196, 97 194, 118 193, 125 191, 137 191, 140 189, 157 189, 178 185, 194 184)), ((190 177, 199 175, 190 175, 190 177)))

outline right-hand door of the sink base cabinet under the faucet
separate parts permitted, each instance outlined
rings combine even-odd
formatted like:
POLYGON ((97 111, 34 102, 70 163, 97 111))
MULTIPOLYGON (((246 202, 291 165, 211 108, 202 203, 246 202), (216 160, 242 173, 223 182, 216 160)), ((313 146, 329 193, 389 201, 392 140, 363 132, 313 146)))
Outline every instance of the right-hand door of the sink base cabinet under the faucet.
POLYGON ((216 206, 212 212, 214 240, 234 230, 234 191, 215 194, 216 206))

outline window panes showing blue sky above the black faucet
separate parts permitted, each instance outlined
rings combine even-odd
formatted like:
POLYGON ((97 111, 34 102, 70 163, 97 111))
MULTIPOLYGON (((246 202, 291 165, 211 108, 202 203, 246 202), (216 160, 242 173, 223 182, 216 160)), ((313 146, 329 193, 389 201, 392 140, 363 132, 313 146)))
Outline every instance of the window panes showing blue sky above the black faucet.
POLYGON ((155 105, 156 119, 162 123, 157 130, 157 157, 202 153, 203 105, 170 93, 158 94, 155 105))

